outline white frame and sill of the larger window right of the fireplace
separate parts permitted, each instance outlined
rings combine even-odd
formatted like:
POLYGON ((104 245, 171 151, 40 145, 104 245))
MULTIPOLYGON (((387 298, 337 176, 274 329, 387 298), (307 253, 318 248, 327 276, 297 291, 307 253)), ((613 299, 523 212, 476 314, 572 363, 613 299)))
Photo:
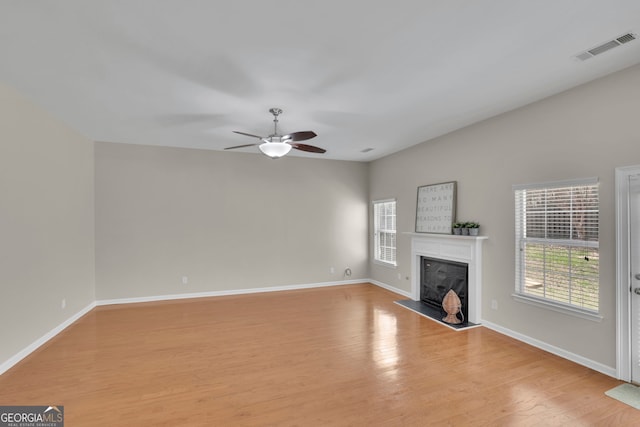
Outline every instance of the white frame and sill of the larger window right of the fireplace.
MULTIPOLYGON (((550 309, 553 311, 561 312, 564 314, 569 314, 589 320, 601 321, 602 316, 600 315, 601 310, 601 301, 600 301, 600 262, 599 262, 599 253, 598 253, 598 266, 597 266, 597 309, 592 309, 588 307, 582 307, 577 304, 573 304, 571 302, 563 302, 559 301, 557 298, 550 298, 547 296, 534 295, 532 293, 527 293, 525 290, 525 251, 524 245, 529 244, 539 244, 545 247, 556 246, 560 248, 566 248, 568 253, 576 249, 597 249, 599 252, 599 242, 600 242, 600 234, 599 234, 599 222, 600 222, 600 202, 599 202, 599 182, 598 178, 584 178, 584 179, 576 179, 576 180, 567 180, 567 181, 554 181, 554 182, 545 182, 545 183, 537 183, 537 184, 525 184, 525 185, 514 185, 513 186, 513 194, 514 194, 514 219, 515 219, 515 290, 512 294, 513 298, 516 301, 524 302, 527 304, 532 304, 538 307, 543 307, 546 309, 550 309), (574 238, 573 236, 569 236, 569 238, 553 238, 548 234, 549 230, 546 228, 546 220, 551 210, 548 210, 547 207, 542 210, 544 212, 545 218, 545 237, 528 237, 526 232, 527 227, 527 219, 526 219, 526 208, 523 206, 519 206, 518 202, 524 203, 526 200, 526 196, 522 197, 518 192, 526 191, 526 190, 553 190, 553 189, 562 189, 562 188, 573 188, 573 187, 595 187, 596 194, 595 199, 597 201, 597 212, 595 213, 595 219, 597 224, 596 240, 579 239, 574 238)), ((592 198, 593 199, 593 198, 592 198)), ((591 200, 592 200, 591 199, 591 200)), ((573 199, 571 199, 573 200, 573 199)), ((575 213, 576 210, 571 206, 570 211, 571 214, 575 213)), ((571 224, 571 222, 570 222, 571 224)), ((571 229, 569 233, 571 233, 571 229)), ((546 256, 546 255, 545 255, 546 256)), ((571 259, 571 258, 570 258, 571 259)), ((543 274, 551 274, 553 270, 551 268, 547 268, 546 258, 542 264, 543 274)), ((572 262, 570 261, 567 265, 567 269, 563 270, 560 275, 566 273, 567 277, 571 277, 570 280, 573 280, 572 277, 572 262)), ((555 265, 557 267, 557 265, 555 265)), ((543 283, 544 289, 547 289, 547 283, 543 283)), ((570 286, 567 286, 570 288, 570 286)))

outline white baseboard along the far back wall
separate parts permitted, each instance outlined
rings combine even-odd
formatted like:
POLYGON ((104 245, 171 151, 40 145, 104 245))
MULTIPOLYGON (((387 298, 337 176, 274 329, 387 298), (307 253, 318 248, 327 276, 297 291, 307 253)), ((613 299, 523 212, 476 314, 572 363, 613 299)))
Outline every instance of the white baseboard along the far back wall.
POLYGON ((154 296, 147 296, 147 297, 104 299, 104 300, 97 300, 96 305, 102 306, 102 305, 114 305, 114 304, 135 304, 139 302, 220 297, 220 296, 227 296, 227 295, 256 294, 260 292, 293 291, 298 289, 324 288, 327 286, 354 285, 357 283, 368 283, 368 282, 370 282, 369 279, 355 279, 355 280, 345 280, 340 282, 321 282, 321 283, 306 283, 306 284, 300 284, 300 285, 272 286, 268 288, 230 289, 225 291, 207 291, 207 292, 193 292, 193 293, 185 293, 185 294, 154 295, 154 296))

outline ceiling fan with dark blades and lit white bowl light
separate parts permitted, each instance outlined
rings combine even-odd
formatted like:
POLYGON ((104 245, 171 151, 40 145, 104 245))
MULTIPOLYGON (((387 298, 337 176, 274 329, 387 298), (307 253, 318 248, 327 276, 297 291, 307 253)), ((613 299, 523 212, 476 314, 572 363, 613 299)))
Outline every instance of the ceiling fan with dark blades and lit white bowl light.
POLYGON ((269 136, 258 136, 246 132, 240 132, 234 130, 234 133, 240 135, 250 136, 252 138, 258 138, 262 142, 255 144, 236 145, 234 147, 227 147, 225 150, 233 150, 235 148, 252 147, 257 145, 263 154, 277 159, 285 156, 292 148, 300 151, 307 151, 309 153, 325 153, 327 150, 324 148, 316 147, 314 145, 299 144, 297 141, 306 141, 307 139, 315 138, 317 135, 311 130, 305 130, 301 132, 293 132, 287 135, 278 134, 278 116, 282 114, 280 108, 271 108, 269 112, 273 114, 273 133, 269 136))

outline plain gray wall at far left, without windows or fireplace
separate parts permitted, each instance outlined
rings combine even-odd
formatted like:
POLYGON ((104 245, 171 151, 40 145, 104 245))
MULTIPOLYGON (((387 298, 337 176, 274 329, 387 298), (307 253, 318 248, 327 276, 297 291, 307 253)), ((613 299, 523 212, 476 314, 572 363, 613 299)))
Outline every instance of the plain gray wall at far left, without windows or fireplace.
POLYGON ((0 139, 3 363, 95 300, 94 172, 93 142, 2 85, 0 139))

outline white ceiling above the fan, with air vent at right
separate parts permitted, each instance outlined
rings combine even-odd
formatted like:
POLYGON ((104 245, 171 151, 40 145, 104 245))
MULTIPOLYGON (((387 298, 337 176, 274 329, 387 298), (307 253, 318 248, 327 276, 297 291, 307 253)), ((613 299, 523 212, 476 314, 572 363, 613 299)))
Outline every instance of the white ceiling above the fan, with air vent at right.
POLYGON ((293 155, 368 161, 640 63, 575 59, 627 32, 639 0, 1 0, 0 82, 96 141, 221 150, 280 107, 327 149, 293 155))

